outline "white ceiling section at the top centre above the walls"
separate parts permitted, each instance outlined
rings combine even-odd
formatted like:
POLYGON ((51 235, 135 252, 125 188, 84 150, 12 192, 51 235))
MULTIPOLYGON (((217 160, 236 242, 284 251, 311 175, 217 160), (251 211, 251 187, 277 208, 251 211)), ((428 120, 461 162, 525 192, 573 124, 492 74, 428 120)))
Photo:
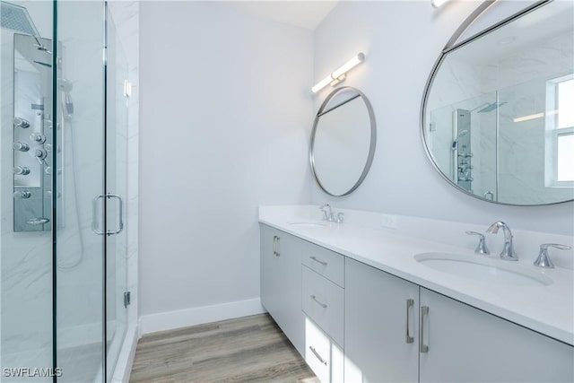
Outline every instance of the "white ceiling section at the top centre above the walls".
POLYGON ((337 2, 338 0, 231 1, 228 4, 264 19, 315 30, 337 2))

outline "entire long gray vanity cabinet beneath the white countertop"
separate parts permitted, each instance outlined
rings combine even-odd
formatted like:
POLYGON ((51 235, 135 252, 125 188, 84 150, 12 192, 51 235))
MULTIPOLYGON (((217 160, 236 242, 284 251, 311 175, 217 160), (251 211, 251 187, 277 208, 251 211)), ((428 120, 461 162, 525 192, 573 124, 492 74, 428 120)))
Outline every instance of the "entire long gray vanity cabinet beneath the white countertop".
POLYGON ((324 383, 574 381, 571 345, 263 224, 261 301, 324 383))

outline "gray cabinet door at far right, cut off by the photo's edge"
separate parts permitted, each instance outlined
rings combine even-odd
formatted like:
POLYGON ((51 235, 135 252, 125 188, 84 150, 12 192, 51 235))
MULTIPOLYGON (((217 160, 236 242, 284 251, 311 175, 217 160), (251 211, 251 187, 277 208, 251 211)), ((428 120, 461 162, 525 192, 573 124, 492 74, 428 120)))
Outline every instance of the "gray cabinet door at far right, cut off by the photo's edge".
MULTIPOLYGON (((526 293, 526 292, 525 292, 526 293)), ((574 348, 421 288, 421 382, 571 382, 574 348)))

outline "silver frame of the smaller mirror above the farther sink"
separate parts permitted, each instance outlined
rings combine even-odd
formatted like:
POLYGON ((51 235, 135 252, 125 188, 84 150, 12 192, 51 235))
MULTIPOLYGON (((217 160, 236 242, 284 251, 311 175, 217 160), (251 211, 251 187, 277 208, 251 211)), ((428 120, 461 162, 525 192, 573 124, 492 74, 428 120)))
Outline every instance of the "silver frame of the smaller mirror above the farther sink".
POLYGON ((370 105, 369 99, 367 99, 367 96, 365 96, 365 93, 363 93, 362 91, 359 91, 358 89, 353 88, 351 86, 342 86, 339 88, 335 88, 335 90, 331 91, 326 96, 326 99, 323 101, 323 103, 321 103, 320 108, 317 110, 317 115, 316 115, 315 121, 313 123, 313 130, 311 131, 311 142, 309 145, 309 162, 311 165, 311 172, 313 173, 313 178, 315 178, 315 181, 317 182, 318 187, 320 187, 321 190, 323 190, 329 196, 347 196, 347 195, 351 194, 357 187, 359 187, 361 185, 361 183, 365 179, 365 177, 367 177, 367 174, 369 173, 369 170, 370 170, 370 165, 373 161, 373 157, 375 156, 376 145, 377 145, 377 123, 375 121, 375 113, 373 112, 373 108, 370 105), (338 107, 344 105, 344 103, 349 102, 350 100, 354 100, 357 97, 361 97, 361 99, 365 103, 365 106, 367 107, 367 111, 369 112, 369 120, 370 120, 370 146, 369 146, 369 156, 367 157, 367 161, 365 162, 365 167, 363 168, 363 170, 361 172, 361 176, 357 179, 357 181, 354 183, 354 185, 348 191, 346 191, 345 193, 340 194, 340 195, 335 195, 335 194, 329 192, 328 190, 326 190, 326 187, 324 187, 321 184, 321 181, 319 181, 319 178, 317 177, 317 173, 315 170, 314 146, 315 146, 315 135, 317 132, 317 125, 319 122, 319 118, 322 115, 324 115, 326 112, 331 110, 331 109, 326 110, 327 104, 329 103, 330 100, 332 100, 335 97, 335 95, 337 93, 339 93, 341 91, 354 91, 357 93, 357 95, 355 97, 352 97, 351 99, 346 100, 343 103, 335 106, 335 108, 338 108, 338 107))

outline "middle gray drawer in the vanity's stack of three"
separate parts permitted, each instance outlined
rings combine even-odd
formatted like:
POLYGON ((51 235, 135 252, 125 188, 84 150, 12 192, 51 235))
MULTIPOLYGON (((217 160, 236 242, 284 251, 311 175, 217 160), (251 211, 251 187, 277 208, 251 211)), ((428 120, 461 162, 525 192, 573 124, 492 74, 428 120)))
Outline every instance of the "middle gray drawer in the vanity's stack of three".
POLYGON ((302 269, 303 312, 337 344, 343 344, 344 290, 305 265, 302 269))

